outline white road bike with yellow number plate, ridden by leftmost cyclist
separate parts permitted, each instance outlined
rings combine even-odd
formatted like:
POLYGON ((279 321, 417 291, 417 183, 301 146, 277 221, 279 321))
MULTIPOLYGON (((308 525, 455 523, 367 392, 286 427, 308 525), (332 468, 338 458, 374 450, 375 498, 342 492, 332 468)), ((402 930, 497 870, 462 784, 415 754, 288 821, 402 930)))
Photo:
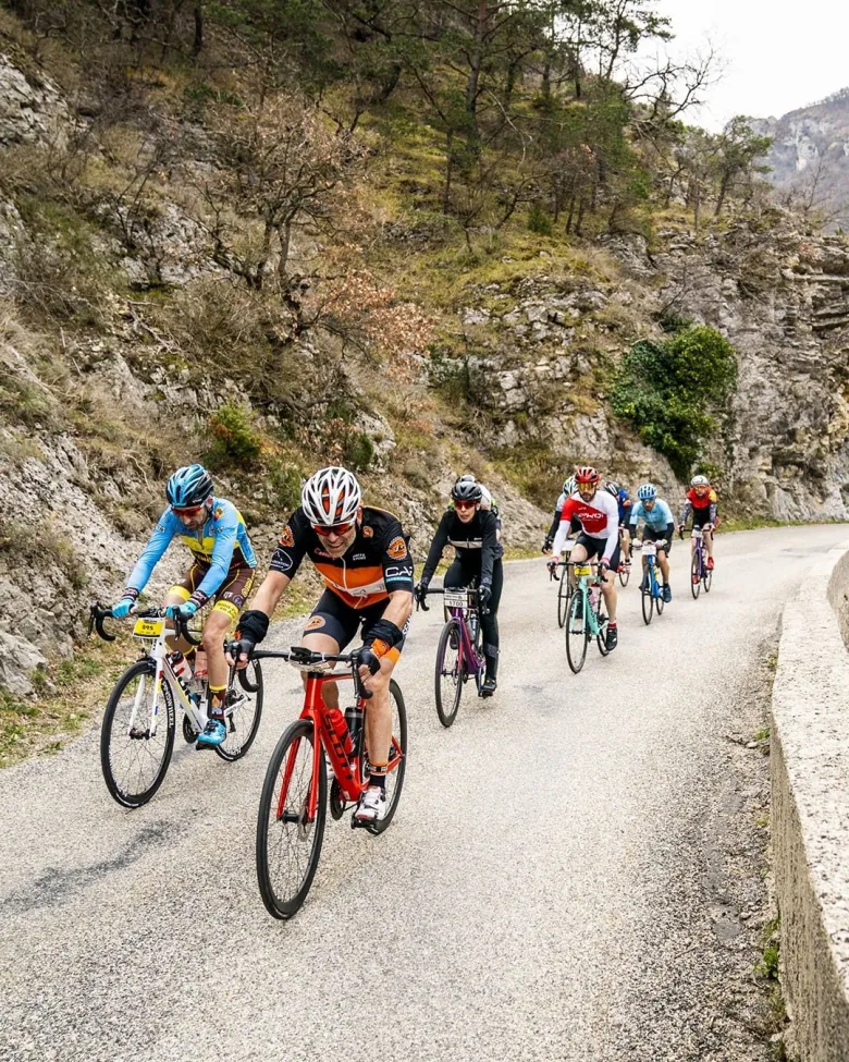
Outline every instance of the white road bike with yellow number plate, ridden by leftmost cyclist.
MULTIPOLYGON (((103 628, 103 620, 111 617, 110 609, 94 605, 89 632, 96 628, 101 638, 113 642, 114 635, 103 628)), ((103 780, 123 807, 142 807, 162 784, 174 749, 177 708, 183 712, 183 737, 188 744, 197 741, 209 721, 207 680, 179 678, 167 642, 183 637, 199 645, 199 632, 176 618, 167 620, 165 610, 159 608, 138 611, 133 619, 133 636, 143 643, 142 657, 115 683, 100 731, 103 780)), ((222 759, 232 761, 245 755, 259 729, 262 671, 258 661, 243 671, 231 669, 224 716, 227 736, 214 748, 222 759)))

